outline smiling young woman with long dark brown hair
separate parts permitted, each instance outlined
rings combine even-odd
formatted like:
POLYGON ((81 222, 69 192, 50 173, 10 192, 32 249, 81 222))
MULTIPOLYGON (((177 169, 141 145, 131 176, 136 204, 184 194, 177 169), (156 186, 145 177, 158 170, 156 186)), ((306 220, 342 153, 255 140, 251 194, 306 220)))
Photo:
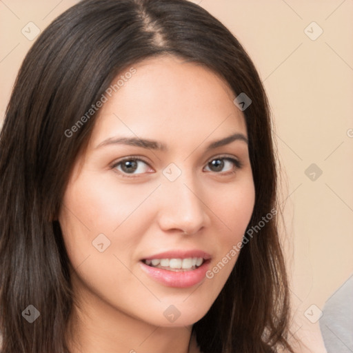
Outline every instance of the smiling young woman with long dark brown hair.
POLYGON ((270 114, 184 0, 86 0, 1 131, 1 352, 293 352, 270 114))

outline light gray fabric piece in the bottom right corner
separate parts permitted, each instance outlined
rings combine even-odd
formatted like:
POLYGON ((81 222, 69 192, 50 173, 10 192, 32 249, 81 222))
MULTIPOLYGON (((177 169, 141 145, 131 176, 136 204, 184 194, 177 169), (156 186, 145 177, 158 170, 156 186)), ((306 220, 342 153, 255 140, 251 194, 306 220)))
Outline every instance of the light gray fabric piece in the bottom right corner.
POLYGON ((353 275, 326 301, 319 323, 327 353, 353 352, 353 275))

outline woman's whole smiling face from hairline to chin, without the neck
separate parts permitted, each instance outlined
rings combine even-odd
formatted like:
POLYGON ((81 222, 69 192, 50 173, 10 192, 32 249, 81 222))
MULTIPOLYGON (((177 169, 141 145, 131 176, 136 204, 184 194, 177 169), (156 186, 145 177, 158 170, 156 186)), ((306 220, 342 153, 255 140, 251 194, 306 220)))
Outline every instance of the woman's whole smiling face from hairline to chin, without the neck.
POLYGON ((134 69, 106 94, 65 190, 72 283, 88 305, 192 325, 234 268, 254 208, 245 118, 201 65, 159 57, 134 69))

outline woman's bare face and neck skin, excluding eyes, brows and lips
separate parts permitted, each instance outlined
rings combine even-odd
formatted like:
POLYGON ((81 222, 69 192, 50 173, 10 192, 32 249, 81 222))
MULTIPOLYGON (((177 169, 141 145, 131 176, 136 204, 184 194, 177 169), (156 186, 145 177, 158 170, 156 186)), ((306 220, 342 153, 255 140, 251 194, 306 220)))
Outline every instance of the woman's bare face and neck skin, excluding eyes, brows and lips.
POLYGON ((241 241, 254 208, 248 144, 236 140, 206 151, 231 134, 248 136, 225 81, 177 57, 134 68, 99 110, 59 213, 77 298, 69 335, 74 353, 189 352, 192 325, 214 303, 236 256, 190 288, 154 281, 139 261, 167 250, 200 249, 212 256, 212 269, 241 241), (97 148, 114 137, 153 139, 166 150, 119 143, 97 148), (209 162, 223 155, 241 168, 222 159, 221 171, 214 171, 209 162), (146 164, 138 161, 135 174, 114 167, 130 156, 146 164), (174 181, 163 174, 170 163, 181 171, 174 181), (110 246, 99 252, 92 241, 102 233, 110 246), (181 313, 173 323, 163 315, 170 305, 181 313))

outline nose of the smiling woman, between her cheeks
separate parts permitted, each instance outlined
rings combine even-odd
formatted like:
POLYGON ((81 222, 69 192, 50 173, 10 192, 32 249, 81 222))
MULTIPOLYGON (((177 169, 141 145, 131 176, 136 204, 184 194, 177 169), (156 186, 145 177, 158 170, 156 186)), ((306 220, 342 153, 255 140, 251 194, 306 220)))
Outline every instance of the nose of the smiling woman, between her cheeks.
MULTIPOLYGON (((190 173, 191 174, 191 173, 190 173)), ((195 234, 210 224, 210 209, 200 184, 184 172, 175 181, 166 180, 159 190, 159 227, 165 232, 195 234)))

